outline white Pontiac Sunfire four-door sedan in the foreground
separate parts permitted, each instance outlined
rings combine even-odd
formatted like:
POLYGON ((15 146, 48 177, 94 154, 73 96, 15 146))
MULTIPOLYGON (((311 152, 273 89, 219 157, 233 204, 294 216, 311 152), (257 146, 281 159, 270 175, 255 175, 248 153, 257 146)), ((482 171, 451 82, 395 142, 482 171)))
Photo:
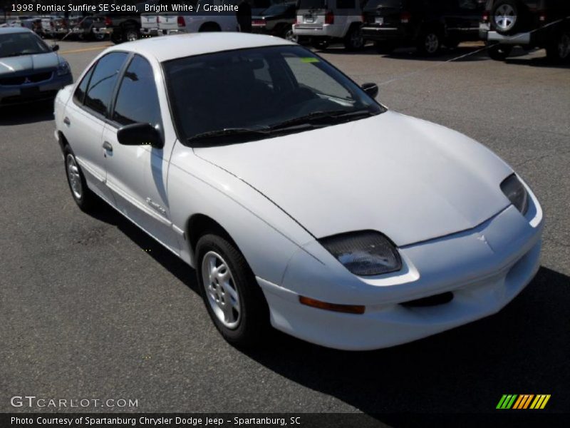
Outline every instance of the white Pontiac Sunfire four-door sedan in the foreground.
POLYGON ((83 210, 104 200, 197 272, 218 330, 398 345, 491 315, 537 272, 542 210, 509 165, 393 111, 283 39, 103 51, 56 99, 83 210))

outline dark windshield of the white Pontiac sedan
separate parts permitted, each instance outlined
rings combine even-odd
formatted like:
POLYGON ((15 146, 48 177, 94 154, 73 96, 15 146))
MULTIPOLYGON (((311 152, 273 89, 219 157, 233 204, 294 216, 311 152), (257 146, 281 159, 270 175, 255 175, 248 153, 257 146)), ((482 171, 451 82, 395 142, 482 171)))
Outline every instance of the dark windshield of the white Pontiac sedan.
POLYGON ((301 46, 190 56, 164 68, 177 131, 191 145, 259 139, 384 111, 301 46))

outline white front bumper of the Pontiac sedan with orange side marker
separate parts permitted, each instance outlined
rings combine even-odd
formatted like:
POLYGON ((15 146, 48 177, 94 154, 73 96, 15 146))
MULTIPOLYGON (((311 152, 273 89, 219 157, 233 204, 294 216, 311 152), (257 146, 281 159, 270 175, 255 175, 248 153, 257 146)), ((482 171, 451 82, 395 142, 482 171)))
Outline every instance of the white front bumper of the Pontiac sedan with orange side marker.
MULTIPOLYGON (((369 279, 341 277, 341 271, 331 275, 336 266, 318 263, 300 251, 291 258, 281 286, 257 278, 269 303, 271 324, 318 345, 372 350, 492 315, 518 295, 539 269, 542 211, 530 190, 529 195, 533 204, 526 218, 510 205, 472 230, 400 248, 405 266, 397 275, 369 279), (402 305, 445 292, 452 293, 450 302, 402 305), (316 309, 301 305, 300 295, 365 305, 366 312, 352 315, 316 309)), ((314 254, 314 248, 309 244, 305 249, 314 254)))

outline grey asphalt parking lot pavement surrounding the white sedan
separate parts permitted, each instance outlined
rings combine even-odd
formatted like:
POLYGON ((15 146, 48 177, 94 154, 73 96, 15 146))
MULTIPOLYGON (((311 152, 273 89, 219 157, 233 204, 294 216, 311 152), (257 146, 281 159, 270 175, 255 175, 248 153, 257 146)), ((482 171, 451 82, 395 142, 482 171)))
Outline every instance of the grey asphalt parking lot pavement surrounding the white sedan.
MULTIPOLYGON (((78 76, 107 43, 60 45, 78 76)), ((570 69, 544 51, 447 62, 476 49, 320 53, 358 83, 378 83, 389 108, 489 147, 546 213, 541 269, 502 312, 374 352, 277 332, 259 350, 227 345, 190 267, 110 208, 76 207, 53 106, 0 110, 0 412, 56 410, 11 406, 28 394, 137 399, 123 410, 138 412, 366 412, 390 422, 383 414, 493 412, 502 394, 528 393, 551 394, 544 412, 569 411, 570 69)))

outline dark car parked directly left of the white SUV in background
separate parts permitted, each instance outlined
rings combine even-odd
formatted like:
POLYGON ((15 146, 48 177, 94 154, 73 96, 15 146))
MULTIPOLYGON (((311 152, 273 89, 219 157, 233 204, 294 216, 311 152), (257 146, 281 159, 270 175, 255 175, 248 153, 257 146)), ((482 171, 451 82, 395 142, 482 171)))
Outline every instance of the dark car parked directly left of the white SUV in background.
POLYGON ((252 32, 296 41, 293 34, 293 24, 297 18, 296 6, 295 2, 273 4, 259 14, 252 15, 252 32))

